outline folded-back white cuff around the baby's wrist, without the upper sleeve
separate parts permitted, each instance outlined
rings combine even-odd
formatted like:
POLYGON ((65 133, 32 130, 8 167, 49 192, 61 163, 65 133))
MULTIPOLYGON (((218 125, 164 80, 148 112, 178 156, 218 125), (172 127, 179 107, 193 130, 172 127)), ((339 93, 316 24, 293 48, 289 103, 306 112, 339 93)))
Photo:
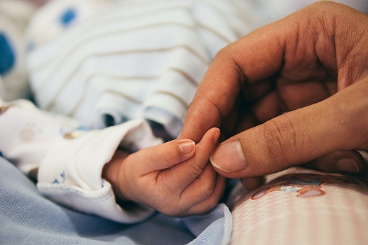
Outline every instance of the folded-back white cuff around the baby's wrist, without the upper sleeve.
POLYGON ((116 204, 102 168, 123 142, 137 150, 161 140, 151 134, 144 120, 107 127, 104 130, 76 131, 55 139, 41 162, 37 187, 54 202, 88 214, 121 223, 135 223, 151 216, 154 209, 136 204, 128 211, 116 204))

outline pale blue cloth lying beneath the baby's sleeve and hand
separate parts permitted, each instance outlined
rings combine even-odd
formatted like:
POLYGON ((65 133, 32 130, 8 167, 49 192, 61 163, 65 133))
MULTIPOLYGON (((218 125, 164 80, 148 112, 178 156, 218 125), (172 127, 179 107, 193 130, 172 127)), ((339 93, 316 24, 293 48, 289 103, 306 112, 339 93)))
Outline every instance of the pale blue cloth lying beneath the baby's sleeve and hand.
POLYGON ((156 214, 135 225, 81 214, 50 202, 27 176, 0 158, 0 244, 228 244, 224 204, 206 216, 156 214))

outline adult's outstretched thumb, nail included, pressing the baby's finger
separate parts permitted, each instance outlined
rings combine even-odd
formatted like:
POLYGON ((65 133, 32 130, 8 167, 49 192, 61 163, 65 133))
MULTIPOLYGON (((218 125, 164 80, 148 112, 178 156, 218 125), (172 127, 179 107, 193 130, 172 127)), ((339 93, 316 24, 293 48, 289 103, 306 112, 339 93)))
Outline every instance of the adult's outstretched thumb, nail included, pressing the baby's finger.
POLYGON ((364 146, 368 105, 354 87, 227 139, 212 153, 212 166, 229 178, 261 176, 364 146))

